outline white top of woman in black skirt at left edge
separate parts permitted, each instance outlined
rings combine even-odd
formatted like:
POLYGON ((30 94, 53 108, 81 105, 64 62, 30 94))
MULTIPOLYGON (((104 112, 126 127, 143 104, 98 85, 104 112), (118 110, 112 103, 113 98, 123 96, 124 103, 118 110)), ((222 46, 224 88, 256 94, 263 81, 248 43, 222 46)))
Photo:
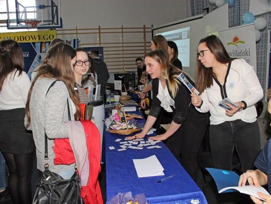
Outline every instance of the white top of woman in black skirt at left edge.
POLYGON ((10 73, 4 81, 0 92, 0 110, 25 108, 30 89, 30 79, 25 72, 19 76, 19 71, 10 73), (15 74, 15 77, 14 77, 15 74))

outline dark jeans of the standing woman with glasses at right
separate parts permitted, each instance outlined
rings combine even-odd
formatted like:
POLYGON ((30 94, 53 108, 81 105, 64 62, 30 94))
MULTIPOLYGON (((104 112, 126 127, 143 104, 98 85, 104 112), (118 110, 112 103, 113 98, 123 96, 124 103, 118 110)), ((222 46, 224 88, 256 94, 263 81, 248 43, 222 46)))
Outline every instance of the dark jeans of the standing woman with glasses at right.
POLYGON ((210 125, 210 149, 215 168, 232 170, 234 148, 238 154, 242 171, 253 167, 260 151, 260 134, 257 121, 226 121, 210 125))

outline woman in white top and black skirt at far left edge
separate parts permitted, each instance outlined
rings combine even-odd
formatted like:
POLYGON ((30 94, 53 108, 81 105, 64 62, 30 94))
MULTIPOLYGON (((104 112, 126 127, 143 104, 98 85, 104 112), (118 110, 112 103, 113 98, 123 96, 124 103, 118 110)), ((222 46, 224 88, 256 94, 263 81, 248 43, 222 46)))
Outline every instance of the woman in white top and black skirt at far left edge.
POLYGON ((22 50, 14 40, 0 42, 0 150, 9 168, 14 204, 31 203, 33 136, 24 126, 30 79, 22 50))

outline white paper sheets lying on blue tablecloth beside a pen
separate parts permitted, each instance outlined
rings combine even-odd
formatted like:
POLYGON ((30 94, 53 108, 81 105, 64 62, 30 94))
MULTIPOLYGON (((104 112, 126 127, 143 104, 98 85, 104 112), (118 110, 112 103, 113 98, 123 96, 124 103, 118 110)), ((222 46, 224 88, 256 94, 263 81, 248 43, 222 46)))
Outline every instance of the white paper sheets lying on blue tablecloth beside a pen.
POLYGON ((144 159, 133 159, 135 170, 137 170, 138 177, 149 177, 165 175, 164 168, 156 155, 144 158, 144 159))

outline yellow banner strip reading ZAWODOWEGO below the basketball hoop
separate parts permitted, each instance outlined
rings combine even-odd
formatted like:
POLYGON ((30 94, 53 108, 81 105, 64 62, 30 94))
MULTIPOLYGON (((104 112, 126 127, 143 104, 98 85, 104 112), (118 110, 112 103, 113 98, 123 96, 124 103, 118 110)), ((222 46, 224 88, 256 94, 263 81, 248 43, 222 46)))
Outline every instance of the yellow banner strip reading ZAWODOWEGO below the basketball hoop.
POLYGON ((1 33, 0 41, 13 39, 18 43, 49 42, 57 37, 56 30, 1 33))

